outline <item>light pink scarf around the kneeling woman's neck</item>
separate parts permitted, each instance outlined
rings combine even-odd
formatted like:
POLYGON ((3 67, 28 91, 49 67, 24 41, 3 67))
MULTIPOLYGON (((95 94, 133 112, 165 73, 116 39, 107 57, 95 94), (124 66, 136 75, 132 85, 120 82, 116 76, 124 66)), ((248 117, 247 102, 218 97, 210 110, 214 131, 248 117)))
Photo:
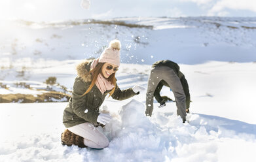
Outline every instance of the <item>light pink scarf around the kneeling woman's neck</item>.
MULTIPOLYGON (((96 67, 98 63, 99 63, 99 58, 94 59, 94 61, 92 61, 92 64, 90 65, 90 69, 93 69, 94 67, 96 67)), ((109 82, 106 78, 104 78, 104 76, 102 76, 101 73, 98 75, 98 78, 95 84, 97 88, 100 89, 102 95, 105 91, 111 90, 115 87, 113 84, 111 84, 111 82, 109 82)))

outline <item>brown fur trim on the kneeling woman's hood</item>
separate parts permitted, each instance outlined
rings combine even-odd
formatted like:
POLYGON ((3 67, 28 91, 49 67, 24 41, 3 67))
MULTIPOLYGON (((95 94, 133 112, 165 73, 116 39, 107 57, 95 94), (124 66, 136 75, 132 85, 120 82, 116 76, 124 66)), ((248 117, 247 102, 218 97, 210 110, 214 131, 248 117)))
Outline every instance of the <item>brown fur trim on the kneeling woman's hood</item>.
POLYGON ((91 59, 85 59, 77 65, 77 75, 81 77, 84 82, 92 81, 92 75, 89 73, 91 63, 91 59))

